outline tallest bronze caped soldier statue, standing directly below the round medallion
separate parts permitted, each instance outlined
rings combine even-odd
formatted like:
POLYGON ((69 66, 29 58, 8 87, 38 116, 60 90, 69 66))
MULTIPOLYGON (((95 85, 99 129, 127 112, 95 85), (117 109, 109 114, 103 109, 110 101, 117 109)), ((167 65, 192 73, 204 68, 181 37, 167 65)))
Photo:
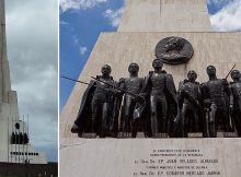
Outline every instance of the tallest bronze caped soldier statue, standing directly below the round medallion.
MULTIPOLYGON (((177 113, 177 101, 173 78, 162 70, 162 61, 154 59, 152 67, 154 71, 150 71, 145 79, 140 95, 145 96, 148 102, 149 137, 159 138, 160 133, 170 133, 177 113)), ((145 111, 137 115, 144 114, 145 111)))

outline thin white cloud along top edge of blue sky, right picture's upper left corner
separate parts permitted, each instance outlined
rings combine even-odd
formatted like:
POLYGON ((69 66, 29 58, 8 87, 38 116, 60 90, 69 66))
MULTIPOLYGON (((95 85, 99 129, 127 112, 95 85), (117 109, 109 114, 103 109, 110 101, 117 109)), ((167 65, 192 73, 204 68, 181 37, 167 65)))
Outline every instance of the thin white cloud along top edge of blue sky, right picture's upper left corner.
POLYGON ((60 10, 66 12, 68 10, 89 9, 103 2, 107 2, 107 0, 60 0, 60 10))

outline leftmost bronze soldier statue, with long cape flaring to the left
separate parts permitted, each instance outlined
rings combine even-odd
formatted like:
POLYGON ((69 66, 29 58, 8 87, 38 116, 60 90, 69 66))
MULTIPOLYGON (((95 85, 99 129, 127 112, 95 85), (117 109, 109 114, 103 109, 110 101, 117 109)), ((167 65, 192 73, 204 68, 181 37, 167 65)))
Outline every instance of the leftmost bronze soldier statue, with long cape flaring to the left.
POLYGON ((91 81, 85 90, 79 114, 71 128, 73 133, 79 133, 80 137, 82 133, 96 133, 104 138, 116 131, 118 108, 116 107, 115 91, 103 83, 116 85, 110 75, 111 71, 110 66, 103 66, 102 75, 97 75, 96 80, 91 81))

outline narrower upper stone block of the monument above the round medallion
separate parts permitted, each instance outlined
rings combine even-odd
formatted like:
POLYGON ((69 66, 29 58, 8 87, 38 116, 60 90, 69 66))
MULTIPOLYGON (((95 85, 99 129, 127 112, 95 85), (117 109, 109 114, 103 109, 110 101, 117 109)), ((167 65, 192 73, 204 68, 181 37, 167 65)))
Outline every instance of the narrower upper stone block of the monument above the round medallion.
POLYGON ((210 32, 206 0, 127 0, 118 32, 210 32))

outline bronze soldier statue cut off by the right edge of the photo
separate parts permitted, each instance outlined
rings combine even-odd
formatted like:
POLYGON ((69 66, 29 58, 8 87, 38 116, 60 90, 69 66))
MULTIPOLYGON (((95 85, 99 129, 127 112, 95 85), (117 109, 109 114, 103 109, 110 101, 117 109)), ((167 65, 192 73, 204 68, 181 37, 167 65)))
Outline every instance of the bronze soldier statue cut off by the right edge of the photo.
POLYGON ((231 72, 233 82, 230 82, 231 99, 230 111, 238 135, 241 137, 241 73, 238 70, 231 72))

